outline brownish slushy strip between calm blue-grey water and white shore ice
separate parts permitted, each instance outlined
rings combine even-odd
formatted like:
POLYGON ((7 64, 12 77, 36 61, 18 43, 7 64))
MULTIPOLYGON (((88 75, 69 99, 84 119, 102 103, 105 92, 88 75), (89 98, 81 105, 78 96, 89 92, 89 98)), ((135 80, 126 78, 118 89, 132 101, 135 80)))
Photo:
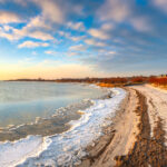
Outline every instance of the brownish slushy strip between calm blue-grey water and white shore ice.
MULTIPOLYGON (((86 86, 88 87, 88 85, 86 86)), ((100 88, 96 85, 94 85, 94 87, 97 87, 98 89, 100 88)), ((111 92, 106 90, 101 97, 97 97, 95 99, 107 99, 110 97, 110 95, 111 92)), ((82 110, 86 110, 91 106, 94 106, 94 99, 82 99, 79 102, 73 102, 66 107, 56 109, 55 114, 48 118, 36 117, 36 120, 29 124, 0 127, 0 141, 17 141, 19 139, 27 138, 28 136, 39 135, 47 137, 66 132, 71 128, 69 122, 71 120, 80 119, 80 117, 84 115, 82 110), (68 112, 65 114, 65 110, 68 110, 68 112), (63 118, 61 118, 61 115, 63 115, 63 118)))

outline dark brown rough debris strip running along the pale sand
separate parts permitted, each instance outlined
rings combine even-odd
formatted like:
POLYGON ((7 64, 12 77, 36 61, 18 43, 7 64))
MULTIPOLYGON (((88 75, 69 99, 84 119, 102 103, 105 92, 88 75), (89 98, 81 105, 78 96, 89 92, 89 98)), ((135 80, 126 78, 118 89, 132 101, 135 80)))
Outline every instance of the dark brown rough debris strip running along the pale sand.
POLYGON ((139 90, 136 91, 139 98, 139 106, 135 111, 140 117, 139 134, 136 136, 137 140, 128 154, 115 158, 117 161, 116 167, 165 167, 167 166, 167 147, 165 146, 165 130, 163 129, 161 119, 158 117, 151 136, 147 98, 139 90))

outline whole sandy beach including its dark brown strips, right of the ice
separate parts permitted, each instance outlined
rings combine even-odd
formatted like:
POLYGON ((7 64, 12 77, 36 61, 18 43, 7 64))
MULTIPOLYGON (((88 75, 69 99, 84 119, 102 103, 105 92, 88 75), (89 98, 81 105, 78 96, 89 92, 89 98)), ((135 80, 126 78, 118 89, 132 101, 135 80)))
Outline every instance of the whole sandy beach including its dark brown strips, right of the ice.
POLYGON ((167 92, 150 86, 126 90, 112 125, 87 147, 80 167, 167 166, 167 92))

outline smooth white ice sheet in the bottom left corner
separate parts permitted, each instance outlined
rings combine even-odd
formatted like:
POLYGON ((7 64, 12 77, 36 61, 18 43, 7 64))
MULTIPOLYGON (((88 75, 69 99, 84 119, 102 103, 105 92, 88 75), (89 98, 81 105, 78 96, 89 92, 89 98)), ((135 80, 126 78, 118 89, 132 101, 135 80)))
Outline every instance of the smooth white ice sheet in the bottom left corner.
POLYGON ((0 167, 13 167, 28 157, 38 156, 50 143, 51 139, 43 139, 40 136, 28 136, 13 143, 0 143, 0 167))

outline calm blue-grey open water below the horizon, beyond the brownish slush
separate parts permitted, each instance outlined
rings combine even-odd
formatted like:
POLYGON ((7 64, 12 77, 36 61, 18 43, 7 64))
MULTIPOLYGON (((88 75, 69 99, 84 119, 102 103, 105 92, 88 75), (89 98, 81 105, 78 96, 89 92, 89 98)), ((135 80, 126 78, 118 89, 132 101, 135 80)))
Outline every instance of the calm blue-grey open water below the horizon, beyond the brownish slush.
POLYGON ((0 127, 48 118, 60 107, 102 95, 101 89, 78 84, 1 81, 0 127))

